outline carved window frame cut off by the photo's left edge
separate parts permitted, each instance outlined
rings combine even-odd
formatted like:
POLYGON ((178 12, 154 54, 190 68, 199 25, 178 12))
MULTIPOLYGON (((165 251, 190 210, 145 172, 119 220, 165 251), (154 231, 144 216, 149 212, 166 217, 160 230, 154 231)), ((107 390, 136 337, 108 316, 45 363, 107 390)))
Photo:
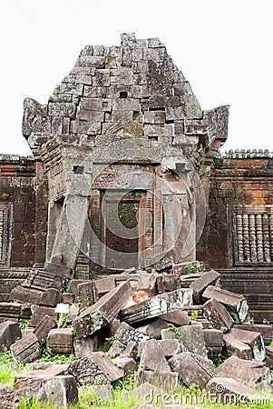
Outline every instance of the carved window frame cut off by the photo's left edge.
POLYGON ((0 268, 10 262, 12 205, 0 203, 0 268))

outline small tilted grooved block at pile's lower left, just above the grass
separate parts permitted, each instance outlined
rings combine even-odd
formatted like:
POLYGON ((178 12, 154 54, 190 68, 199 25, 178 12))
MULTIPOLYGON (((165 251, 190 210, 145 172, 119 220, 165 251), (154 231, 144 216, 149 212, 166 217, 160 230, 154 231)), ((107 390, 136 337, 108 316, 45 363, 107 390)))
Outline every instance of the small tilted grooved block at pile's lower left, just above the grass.
POLYGON ((15 361, 26 364, 41 357, 42 351, 38 338, 32 332, 24 336, 10 346, 10 351, 15 361))

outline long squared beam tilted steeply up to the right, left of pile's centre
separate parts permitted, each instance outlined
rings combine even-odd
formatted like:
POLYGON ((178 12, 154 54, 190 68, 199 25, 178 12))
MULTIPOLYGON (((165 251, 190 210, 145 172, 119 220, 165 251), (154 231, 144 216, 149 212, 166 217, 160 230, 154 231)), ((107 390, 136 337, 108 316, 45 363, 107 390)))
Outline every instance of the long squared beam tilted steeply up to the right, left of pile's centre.
POLYGON ((87 307, 73 320, 77 337, 91 335, 102 326, 109 324, 129 300, 131 293, 131 284, 126 281, 103 295, 97 303, 87 307))

